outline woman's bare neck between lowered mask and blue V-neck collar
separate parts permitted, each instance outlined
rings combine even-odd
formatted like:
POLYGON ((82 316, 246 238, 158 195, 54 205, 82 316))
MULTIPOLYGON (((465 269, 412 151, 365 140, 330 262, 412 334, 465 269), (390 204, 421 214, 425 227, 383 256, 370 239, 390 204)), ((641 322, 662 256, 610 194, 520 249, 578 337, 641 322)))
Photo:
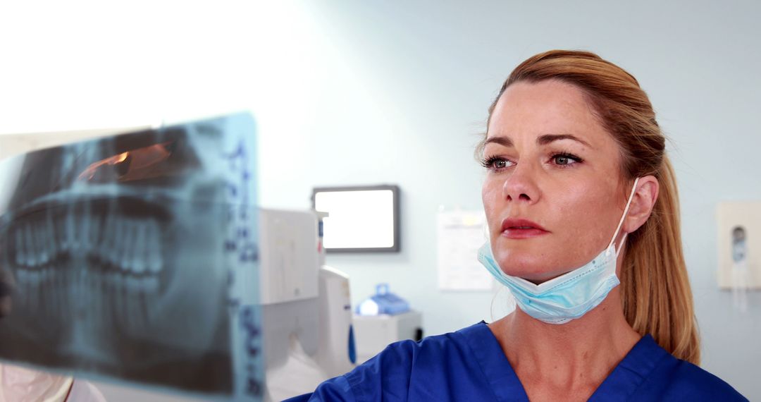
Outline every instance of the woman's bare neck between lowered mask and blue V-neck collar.
POLYGON ((641 338, 626 322, 618 287, 566 324, 546 324, 516 308, 489 327, 524 388, 594 391, 641 338))

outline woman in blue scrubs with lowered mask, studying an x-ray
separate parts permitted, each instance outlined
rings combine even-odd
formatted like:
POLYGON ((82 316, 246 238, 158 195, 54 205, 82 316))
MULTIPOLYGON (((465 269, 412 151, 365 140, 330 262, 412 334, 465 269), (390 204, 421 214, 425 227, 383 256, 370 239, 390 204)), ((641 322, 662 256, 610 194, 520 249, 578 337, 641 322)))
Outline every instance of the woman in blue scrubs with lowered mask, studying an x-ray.
POLYGON ((562 50, 518 65, 478 149, 479 260, 518 308, 394 343, 296 400, 745 400, 697 366, 664 145, 618 66, 562 50))

